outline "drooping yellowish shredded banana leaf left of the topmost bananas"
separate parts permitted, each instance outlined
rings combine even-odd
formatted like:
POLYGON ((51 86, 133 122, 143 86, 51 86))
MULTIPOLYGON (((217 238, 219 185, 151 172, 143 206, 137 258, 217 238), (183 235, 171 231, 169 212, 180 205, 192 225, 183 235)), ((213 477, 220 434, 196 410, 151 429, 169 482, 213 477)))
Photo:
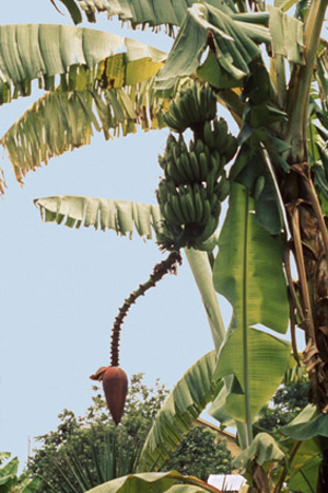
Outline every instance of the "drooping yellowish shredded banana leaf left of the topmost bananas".
POLYGON ((163 126, 150 82, 127 90, 75 85, 78 90, 47 92, 2 137, 19 183, 50 158, 90 145, 94 130, 107 140, 136 133, 138 126, 145 131, 163 126))

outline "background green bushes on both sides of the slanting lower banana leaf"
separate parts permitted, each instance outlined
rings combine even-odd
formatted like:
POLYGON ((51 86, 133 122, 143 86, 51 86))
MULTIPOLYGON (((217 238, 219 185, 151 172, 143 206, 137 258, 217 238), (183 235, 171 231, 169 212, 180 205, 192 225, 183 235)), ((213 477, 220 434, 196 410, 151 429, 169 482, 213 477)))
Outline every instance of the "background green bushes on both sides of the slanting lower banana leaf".
MULTIPOLYGON (((95 390, 99 389, 95 387, 95 390)), ((156 381, 151 389, 142 374, 131 377, 126 410, 116 427, 101 393, 85 415, 65 410, 55 432, 38 437, 42 446, 31 458, 31 470, 40 477, 37 493, 82 493, 106 481, 136 472, 149 429, 167 395, 156 381)), ((194 427, 181 440, 164 470, 206 480, 210 473, 230 472, 231 456, 215 433, 194 427)), ((2 492, 0 492, 2 493, 2 492)))

